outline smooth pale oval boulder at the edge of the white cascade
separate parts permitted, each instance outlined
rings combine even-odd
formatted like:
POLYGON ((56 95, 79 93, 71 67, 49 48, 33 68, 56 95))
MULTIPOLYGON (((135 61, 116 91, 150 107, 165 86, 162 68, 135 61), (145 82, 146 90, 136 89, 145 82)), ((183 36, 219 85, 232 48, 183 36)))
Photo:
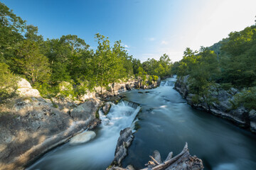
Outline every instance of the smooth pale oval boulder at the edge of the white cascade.
POLYGON ((92 140, 93 138, 95 138, 96 133, 93 131, 85 131, 82 132, 78 135, 75 135, 75 137, 72 137, 70 140, 70 144, 79 144, 79 143, 85 143, 88 142, 90 140, 92 140))

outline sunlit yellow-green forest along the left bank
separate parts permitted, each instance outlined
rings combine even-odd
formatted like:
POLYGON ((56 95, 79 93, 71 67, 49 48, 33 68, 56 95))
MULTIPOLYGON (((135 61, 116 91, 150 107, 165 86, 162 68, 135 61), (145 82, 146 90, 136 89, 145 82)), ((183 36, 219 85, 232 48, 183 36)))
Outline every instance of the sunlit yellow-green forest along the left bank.
POLYGON ((43 97, 50 98, 58 93, 76 97, 95 86, 107 87, 130 78, 156 81, 171 74, 168 55, 142 63, 128 54, 121 40, 111 45, 100 33, 95 34, 96 50, 77 35, 45 40, 38 35, 38 27, 27 25, 2 3, 0 9, 1 100, 14 94, 10 89, 17 89, 18 77, 26 78, 43 97), (70 91, 61 91, 66 82, 70 91))

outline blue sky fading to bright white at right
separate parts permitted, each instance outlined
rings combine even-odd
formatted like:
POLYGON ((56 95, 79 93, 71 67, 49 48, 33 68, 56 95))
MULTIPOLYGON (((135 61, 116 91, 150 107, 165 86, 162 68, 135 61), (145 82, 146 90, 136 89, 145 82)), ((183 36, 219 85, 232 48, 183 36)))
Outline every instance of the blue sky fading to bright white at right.
POLYGON ((255 24, 256 0, 1 0, 43 38, 78 35, 95 50, 95 34, 122 40, 129 55, 146 61, 164 53, 181 60, 255 24))

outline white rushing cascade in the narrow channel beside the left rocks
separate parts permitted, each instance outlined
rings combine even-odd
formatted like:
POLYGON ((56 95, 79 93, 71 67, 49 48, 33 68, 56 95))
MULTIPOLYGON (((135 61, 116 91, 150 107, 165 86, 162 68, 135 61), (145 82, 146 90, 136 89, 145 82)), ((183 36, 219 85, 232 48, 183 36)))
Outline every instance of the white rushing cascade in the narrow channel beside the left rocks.
POLYGON ((126 101, 112 104, 110 113, 100 113, 102 123, 95 130, 94 140, 82 145, 63 145, 43 156, 31 169, 106 169, 114 159, 120 130, 131 127, 140 110, 127 105, 126 101))

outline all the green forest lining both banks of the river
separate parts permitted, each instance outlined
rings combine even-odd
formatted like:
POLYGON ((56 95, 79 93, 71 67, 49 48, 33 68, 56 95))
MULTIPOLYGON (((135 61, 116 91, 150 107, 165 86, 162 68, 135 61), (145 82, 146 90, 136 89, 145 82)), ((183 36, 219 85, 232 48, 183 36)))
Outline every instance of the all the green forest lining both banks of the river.
POLYGON ((232 32, 228 38, 199 51, 186 48, 183 59, 172 63, 164 54, 146 62, 129 55, 121 40, 111 45, 109 38, 95 34, 97 49, 92 50, 77 35, 56 39, 38 35, 38 28, 26 25, 7 6, 0 4, 0 98, 9 98, 18 77, 28 79, 46 98, 62 93, 76 97, 95 86, 131 78, 156 81, 159 77, 190 75, 191 91, 208 94, 215 83, 223 89, 240 89, 238 103, 256 109, 256 26, 232 32), (146 76, 149 75, 149 76, 146 76), (69 82, 70 91, 60 86, 69 82), (72 90, 71 90, 72 89, 72 90))

